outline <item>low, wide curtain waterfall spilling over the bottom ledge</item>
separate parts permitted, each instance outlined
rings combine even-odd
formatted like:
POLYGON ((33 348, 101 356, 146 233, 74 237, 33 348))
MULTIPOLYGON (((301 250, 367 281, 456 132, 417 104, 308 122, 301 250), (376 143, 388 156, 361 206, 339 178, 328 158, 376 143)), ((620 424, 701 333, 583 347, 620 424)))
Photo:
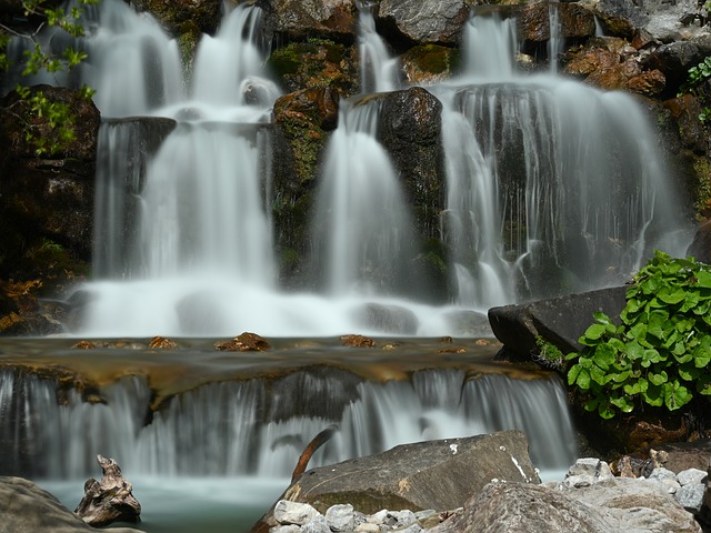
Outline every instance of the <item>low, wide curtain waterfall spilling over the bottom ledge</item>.
POLYGON ((0 443, 10 453, 0 457, 0 471, 81 479, 96 470, 100 451, 116 457, 129 479, 139 473, 287 477, 306 444, 332 423, 338 433, 310 466, 408 442, 507 429, 527 432, 531 457, 542 470, 564 469, 574 459, 565 393, 557 380, 467 379, 453 370, 419 371, 411 381, 387 383, 342 379, 296 371, 272 383, 259 378, 211 383, 152 412, 143 378, 122 378, 93 391, 101 401, 90 403, 54 381, 1 371, 0 413, 8 423, 0 428, 0 443), (303 414, 309 404, 319 406, 303 414))

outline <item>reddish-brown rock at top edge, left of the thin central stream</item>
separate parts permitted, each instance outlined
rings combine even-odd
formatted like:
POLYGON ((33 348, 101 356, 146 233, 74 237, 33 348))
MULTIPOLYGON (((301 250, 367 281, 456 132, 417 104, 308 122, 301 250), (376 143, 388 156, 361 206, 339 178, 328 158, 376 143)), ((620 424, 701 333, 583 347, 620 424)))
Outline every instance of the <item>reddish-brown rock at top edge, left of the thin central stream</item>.
POLYGON ((351 0, 272 0, 268 18, 273 31, 290 40, 353 41, 358 11, 351 0))

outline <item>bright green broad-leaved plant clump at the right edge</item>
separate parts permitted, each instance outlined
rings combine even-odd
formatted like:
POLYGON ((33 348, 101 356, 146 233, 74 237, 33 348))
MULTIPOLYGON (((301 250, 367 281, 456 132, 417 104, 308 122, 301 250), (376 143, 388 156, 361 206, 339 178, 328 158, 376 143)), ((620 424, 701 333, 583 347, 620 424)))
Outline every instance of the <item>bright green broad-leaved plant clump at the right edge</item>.
POLYGON ((711 266, 662 252, 634 276, 615 325, 594 314, 568 383, 603 419, 644 404, 678 410, 711 395, 711 266))

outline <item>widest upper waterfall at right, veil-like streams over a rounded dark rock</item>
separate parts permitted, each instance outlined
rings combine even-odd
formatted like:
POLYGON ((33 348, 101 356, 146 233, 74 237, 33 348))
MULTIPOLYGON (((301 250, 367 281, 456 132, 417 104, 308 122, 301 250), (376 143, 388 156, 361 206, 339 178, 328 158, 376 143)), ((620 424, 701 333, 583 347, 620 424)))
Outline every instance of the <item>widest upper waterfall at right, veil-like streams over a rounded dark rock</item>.
MULTIPOLYGON (((682 224, 633 99, 551 74, 517 76, 513 56, 490 61, 478 43, 510 52, 508 21, 473 17, 468 31, 472 70, 464 83, 437 88, 449 180, 443 229, 460 304, 487 309, 619 283, 654 247, 669 250, 682 224)), ((685 240, 677 241, 672 253, 683 254, 685 240)))

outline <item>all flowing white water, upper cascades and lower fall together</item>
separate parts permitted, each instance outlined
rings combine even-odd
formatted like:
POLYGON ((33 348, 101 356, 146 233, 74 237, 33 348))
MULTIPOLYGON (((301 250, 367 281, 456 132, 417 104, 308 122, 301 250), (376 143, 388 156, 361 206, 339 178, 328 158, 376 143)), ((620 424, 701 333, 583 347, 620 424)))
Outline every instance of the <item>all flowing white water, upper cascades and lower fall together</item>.
MULTIPOLYGON (((375 140, 378 104, 362 101, 342 102, 316 194, 321 290, 288 292, 277 280, 264 128, 279 91, 262 69, 268 43, 261 42, 260 11, 226 13, 219 32, 202 38, 190 81, 181 76, 176 42, 151 17, 118 0, 103 0, 91 17, 83 44, 90 60, 78 76, 98 90, 104 118, 97 280, 82 288, 89 304, 73 334, 163 334, 187 342, 247 330, 320 338, 382 332, 363 315, 395 310, 409 333, 444 335, 454 331, 448 318, 453 310, 485 311, 601 286, 625 279, 664 239, 675 241, 678 250, 662 247, 671 253, 685 248, 674 233, 680 224, 663 161, 633 100, 555 77, 555 24, 551 72, 523 77, 514 62, 515 22, 473 17, 463 36, 464 72, 430 88, 444 108, 442 237, 455 263, 457 301, 425 305, 388 281, 404 269, 411 213, 375 140), (144 150, 147 139, 154 155, 144 150)), ((555 17, 552 9, 552 22, 555 17)), ((361 24, 363 90, 397 89, 397 62, 367 4, 361 24)), ((4 350, 3 359, 36 349, 4 350)), ((78 356, 53 345, 40 351, 67 361, 78 356)), ((380 354, 372 364, 402 364, 414 352, 380 354)), ((0 414, 13 423, 0 424, 1 473, 46 477, 73 506, 83 477, 97 475, 93 455, 117 455, 139 500, 146 499, 147 531, 178 533, 247 529, 286 486, 304 443, 331 423, 340 430, 316 464, 508 428, 527 431, 531 454, 545 471, 565 467, 574 456, 557 381, 498 373, 474 379, 475 372, 453 365, 369 380, 353 378, 358 372, 327 379, 293 370, 274 385, 244 370, 279 369, 306 353, 259 354, 243 363, 239 379, 212 375, 207 381, 213 383, 169 394, 159 409, 152 405, 156 383, 141 372, 103 383, 93 391, 96 402, 31 372, 3 370, 0 414), (174 490, 164 486, 171 476, 174 490), (186 494, 194 497, 188 502, 186 494)), ((332 345, 324 353, 310 363, 361 358, 332 345)), ((123 368, 162 368, 156 353, 141 352, 138 361, 124 351, 92 355, 96 366, 116 358, 123 368)), ((194 364, 184 375, 223 370, 211 346, 191 345, 182 355, 194 364)), ((444 360, 439 354, 427 368, 444 360)))

